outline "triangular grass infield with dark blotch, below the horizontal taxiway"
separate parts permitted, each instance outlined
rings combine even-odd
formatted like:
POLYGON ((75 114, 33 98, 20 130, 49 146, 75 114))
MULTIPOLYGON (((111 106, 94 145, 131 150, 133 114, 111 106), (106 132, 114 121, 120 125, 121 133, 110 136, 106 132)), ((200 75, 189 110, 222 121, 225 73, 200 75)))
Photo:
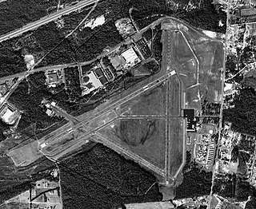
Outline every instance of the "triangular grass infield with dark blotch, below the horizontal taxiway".
POLYGON ((100 132, 158 168, 165 168, 165 119, 118 119, 100 132))

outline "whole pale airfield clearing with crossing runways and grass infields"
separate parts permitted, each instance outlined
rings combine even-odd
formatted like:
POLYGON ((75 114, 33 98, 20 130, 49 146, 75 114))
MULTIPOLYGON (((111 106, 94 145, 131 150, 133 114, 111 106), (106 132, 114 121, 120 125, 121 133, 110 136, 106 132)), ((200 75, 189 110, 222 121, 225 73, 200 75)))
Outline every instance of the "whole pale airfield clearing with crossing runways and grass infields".
POLYGON ((15 153, 22 148, 12 150, 14 163, 37 160, 38 152, 55 162, 93 140, 150 169, 162 182, 174 182, 186 161, 182 110, 200 112, 205 99, 221 101, 224 45, 219 37, 174 18, 162 18, 151 27, 158 24, 163 45, 158 73, 42 137, 29 156, 18 160, 15 153))

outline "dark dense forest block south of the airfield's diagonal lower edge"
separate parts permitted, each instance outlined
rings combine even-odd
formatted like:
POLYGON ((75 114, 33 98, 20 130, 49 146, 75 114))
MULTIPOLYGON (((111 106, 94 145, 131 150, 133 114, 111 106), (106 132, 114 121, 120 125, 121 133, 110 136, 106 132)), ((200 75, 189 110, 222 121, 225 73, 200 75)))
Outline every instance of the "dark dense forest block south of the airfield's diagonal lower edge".
POLYGON ((58 166, 63 208, 110 209, 162 200, 154 175, 102 144, 61 160, 58 166))

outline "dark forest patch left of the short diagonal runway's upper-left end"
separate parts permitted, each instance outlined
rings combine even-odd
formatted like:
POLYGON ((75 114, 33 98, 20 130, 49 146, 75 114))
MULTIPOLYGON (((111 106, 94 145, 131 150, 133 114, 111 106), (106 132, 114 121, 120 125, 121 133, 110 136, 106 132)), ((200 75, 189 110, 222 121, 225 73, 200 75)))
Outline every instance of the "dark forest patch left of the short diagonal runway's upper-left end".
POLYGON ((30 137, 37 136, 46 128, 61 123, 63 120, 58 116, 50 117, 46 114, 46 107, 42 105, 42 100, 49 97, 50 93, 45 82, 46 77, 43 72, 34 73, 27 78, 27 81, 23 80, 18 85, 8 100, 22 112, 18 131, 30 137))

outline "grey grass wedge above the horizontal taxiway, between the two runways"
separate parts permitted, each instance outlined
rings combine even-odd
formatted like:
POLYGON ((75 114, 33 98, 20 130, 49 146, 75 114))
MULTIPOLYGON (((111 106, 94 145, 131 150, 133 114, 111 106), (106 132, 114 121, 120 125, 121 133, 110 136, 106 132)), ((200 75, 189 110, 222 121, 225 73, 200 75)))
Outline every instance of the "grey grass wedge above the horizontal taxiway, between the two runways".
POLYGON ((166 112, 166 85, 158 85, 121 105, 123 116, 164 116, 166 112))

